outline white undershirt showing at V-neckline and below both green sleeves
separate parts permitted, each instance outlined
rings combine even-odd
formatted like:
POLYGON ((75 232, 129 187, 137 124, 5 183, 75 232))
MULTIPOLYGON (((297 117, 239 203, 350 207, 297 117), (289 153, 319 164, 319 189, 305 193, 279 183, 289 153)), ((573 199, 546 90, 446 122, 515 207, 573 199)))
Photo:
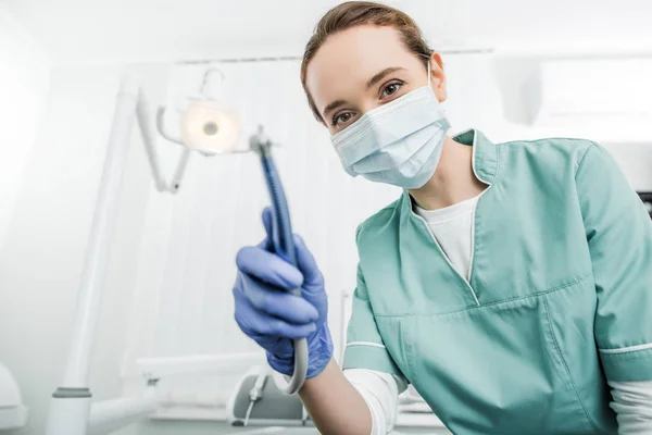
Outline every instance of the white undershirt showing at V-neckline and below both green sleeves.
MULTIPOLYGON (((468 278, 473 258, 473 222, 478 197, 439 210, 415 207, 437 239, 448 260, 468 278)), ((386 435, 393 428, 398 396, 408 383, 400 376, 368 369, 348 369, 344 376, 360 391, 369 408, 371 435, 386 435)), ((652 381, 609 382, 613 388, 611 407, 618 419, 618 434, 652 434, 652 381)))

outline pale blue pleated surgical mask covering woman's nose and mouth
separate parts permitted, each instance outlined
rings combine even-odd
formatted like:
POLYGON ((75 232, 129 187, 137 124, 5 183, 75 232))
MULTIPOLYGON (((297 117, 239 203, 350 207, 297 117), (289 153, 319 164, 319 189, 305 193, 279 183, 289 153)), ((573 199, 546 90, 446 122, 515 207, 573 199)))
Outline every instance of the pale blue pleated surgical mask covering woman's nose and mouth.
POLYGON ((426 86, 369 110, 330 139, 350 175, 415 189, 435 174, 449 128, 428 64, 426 86))

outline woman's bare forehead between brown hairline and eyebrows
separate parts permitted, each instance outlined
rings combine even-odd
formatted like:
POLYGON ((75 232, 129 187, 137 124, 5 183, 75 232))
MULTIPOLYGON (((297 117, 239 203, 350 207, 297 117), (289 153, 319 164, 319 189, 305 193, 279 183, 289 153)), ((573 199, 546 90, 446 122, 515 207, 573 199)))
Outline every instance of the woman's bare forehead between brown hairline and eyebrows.
POLYGON ((365 91, 367 80, 386 67, 417 65, 396 28, 355 26, 328 37, 310 62, 305 83, 321 111, 336 99, 365 91))

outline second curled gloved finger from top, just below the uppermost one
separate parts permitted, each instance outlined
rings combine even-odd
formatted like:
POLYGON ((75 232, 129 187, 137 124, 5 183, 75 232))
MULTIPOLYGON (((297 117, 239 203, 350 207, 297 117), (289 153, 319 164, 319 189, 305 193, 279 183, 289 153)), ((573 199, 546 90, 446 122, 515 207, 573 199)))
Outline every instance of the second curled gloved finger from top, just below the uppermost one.
POLYGON ((304 324, 319 318, 317 309, 308 300, 290 293, 267 288, 255 278, 242 274, 242 293, 249 302, 269 318, 286 322, 304 324))

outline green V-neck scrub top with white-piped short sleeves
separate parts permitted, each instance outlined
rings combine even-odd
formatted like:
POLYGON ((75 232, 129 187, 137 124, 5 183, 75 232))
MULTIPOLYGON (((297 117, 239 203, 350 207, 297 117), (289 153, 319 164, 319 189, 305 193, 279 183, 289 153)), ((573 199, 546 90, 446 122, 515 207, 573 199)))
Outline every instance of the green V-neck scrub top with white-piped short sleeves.
POLYGON ((402 197, 358 228, 344 369, 405 377, 455 434, 616 433, 609 381, 652 380, 652 223, 579 139, 492 144, 471 278, 402 197))

